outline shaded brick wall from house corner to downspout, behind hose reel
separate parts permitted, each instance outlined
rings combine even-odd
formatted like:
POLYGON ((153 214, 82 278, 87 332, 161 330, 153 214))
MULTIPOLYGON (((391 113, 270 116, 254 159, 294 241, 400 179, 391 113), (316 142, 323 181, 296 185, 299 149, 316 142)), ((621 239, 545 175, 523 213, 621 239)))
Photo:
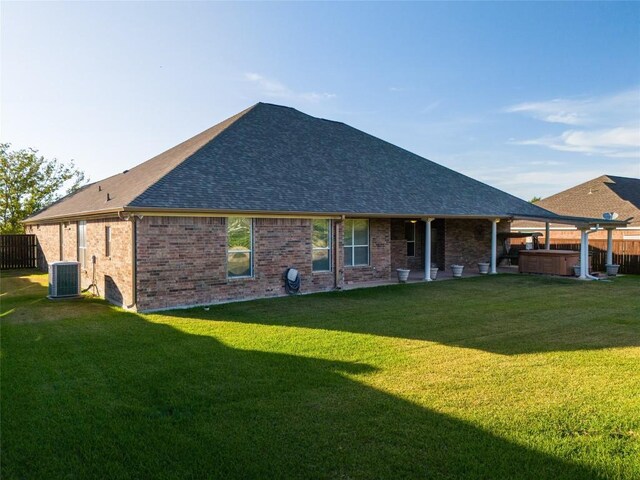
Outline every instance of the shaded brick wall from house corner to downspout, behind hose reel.
POLYGON ((301 292, 334 288, 333 272, 312 272, 311 220, 258 218, 253 226, 253 277, 228 279, 225 218, 143 218, 137 227, 138 309, 285 295, 282 277, 290 267, 300 271, 301 292))

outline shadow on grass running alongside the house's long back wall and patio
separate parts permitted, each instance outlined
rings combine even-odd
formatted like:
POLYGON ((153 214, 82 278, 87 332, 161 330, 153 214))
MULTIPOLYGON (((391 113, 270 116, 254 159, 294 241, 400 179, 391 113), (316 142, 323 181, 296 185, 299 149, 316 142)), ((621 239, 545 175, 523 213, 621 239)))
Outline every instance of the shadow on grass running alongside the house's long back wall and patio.
POLYGON ((427 340, 503 355, 640 345, 640 277, 497 275, 173 310, 164 315, 427 340))

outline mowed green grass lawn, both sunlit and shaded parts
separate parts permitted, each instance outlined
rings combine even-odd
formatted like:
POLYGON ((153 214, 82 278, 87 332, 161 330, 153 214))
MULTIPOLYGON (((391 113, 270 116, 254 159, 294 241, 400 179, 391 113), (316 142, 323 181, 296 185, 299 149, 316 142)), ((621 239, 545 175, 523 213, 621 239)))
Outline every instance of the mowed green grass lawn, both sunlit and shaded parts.
POLYGON ((2 478, 640 478, 640 277, 139 315, 2 277, 2 478))

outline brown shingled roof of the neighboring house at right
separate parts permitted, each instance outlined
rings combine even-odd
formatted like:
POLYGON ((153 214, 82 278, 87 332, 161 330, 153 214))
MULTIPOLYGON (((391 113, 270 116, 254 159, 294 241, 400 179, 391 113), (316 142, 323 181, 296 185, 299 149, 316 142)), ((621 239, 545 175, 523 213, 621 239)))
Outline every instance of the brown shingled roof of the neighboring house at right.
MULTIPOLYGON (((563 216, 602 218, 605 212, 615 212, 618 220, 633 217, 629 227, 640 228, 640 179, 602 175, 535 204, 563 216)), ((514 222, 512 228, 538 225, 521 220, 514 222)))

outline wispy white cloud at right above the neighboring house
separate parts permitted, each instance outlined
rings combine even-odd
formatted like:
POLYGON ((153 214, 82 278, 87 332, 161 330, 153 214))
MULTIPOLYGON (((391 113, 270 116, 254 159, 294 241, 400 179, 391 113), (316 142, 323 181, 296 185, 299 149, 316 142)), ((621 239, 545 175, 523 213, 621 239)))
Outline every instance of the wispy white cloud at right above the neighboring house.
POLYGON ((547 123, 580 126, 514 145, 537 145, 562 152, 610 158, 640 158, 640 89, 580 100, 529 102, 505 109, 547 123))

